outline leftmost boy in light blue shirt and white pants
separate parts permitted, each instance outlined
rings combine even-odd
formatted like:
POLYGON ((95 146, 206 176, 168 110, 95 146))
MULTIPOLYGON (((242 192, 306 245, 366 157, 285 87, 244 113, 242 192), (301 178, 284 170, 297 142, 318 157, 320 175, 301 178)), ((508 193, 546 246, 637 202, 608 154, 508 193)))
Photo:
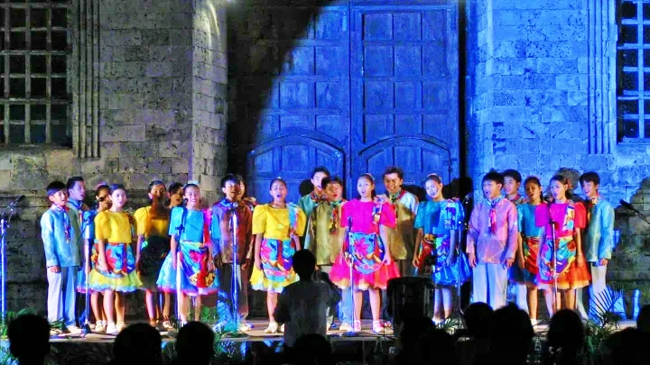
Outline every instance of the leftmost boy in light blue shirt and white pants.
MULTIPOLYGON (((63 321, 71 334, 81 333, 75 321, 75 287, 79 270, 79 237, 71 221, 68 189, 60 181, 48 187, 52 205, 41 217, 41 237, 48 278, 48 320, 63 321)), ((79 230, 79 228, 77 228, 79 230)), ((60 334, 52 330, 52 334, 60 334)))

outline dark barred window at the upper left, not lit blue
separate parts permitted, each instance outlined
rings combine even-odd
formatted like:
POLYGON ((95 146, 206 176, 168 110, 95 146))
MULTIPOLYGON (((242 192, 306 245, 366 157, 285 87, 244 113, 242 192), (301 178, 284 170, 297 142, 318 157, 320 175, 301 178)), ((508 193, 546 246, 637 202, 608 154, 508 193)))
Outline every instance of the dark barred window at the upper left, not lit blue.
POLYGON ((67 0, 0 0, 0 144, 72 145, 67 0))

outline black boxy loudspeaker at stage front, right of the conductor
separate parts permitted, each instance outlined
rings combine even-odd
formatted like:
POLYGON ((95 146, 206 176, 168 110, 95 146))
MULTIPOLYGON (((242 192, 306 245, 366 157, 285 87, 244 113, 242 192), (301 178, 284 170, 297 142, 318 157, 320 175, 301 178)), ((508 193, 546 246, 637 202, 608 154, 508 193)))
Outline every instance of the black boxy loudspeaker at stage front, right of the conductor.
POLYGON ((435 286, 431 278, 391 278, 386 292, 388 313, 396 330, 408 316, 433 317, 435 286))

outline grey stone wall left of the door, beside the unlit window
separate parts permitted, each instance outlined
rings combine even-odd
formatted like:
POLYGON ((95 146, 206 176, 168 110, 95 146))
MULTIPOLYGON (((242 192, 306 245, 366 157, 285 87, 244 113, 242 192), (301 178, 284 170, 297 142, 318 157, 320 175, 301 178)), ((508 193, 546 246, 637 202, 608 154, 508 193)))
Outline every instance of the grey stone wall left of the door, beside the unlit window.
MULTIPOLYGON (((146 204, 145 189, 153 179, 199 180, 206 204, 211 203, 225 169, 227 64, 221 5, 185 0, 104 0, 96 5, 101 23, 96 80, 100 157, 81 159, 73 150, 42 146, 0 151, 0 205, 27 196, 8 235, 10 310, 45 309, 39 220, 48 207, 44 188, 50 181, 82 175, 89 189, 100 181, 122 183, 132 198, 129 207, 135 209, 146 204)), ((75 76, 70 76, 74 84, 75 76)), ((132 313, 142 312, 143 296, 130 297, 138 298, 129 299, 132 313)))

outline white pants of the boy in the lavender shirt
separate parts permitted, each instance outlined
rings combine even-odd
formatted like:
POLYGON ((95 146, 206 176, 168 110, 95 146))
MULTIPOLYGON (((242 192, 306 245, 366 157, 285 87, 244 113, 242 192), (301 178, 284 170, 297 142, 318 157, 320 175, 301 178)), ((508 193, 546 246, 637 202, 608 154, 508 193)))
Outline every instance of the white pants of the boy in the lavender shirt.
POLYGON ((478 263, 474 268, 473 287, 474 303, 487 303, 495 310, 506 306, 506 266, 486 262, 478 263))

